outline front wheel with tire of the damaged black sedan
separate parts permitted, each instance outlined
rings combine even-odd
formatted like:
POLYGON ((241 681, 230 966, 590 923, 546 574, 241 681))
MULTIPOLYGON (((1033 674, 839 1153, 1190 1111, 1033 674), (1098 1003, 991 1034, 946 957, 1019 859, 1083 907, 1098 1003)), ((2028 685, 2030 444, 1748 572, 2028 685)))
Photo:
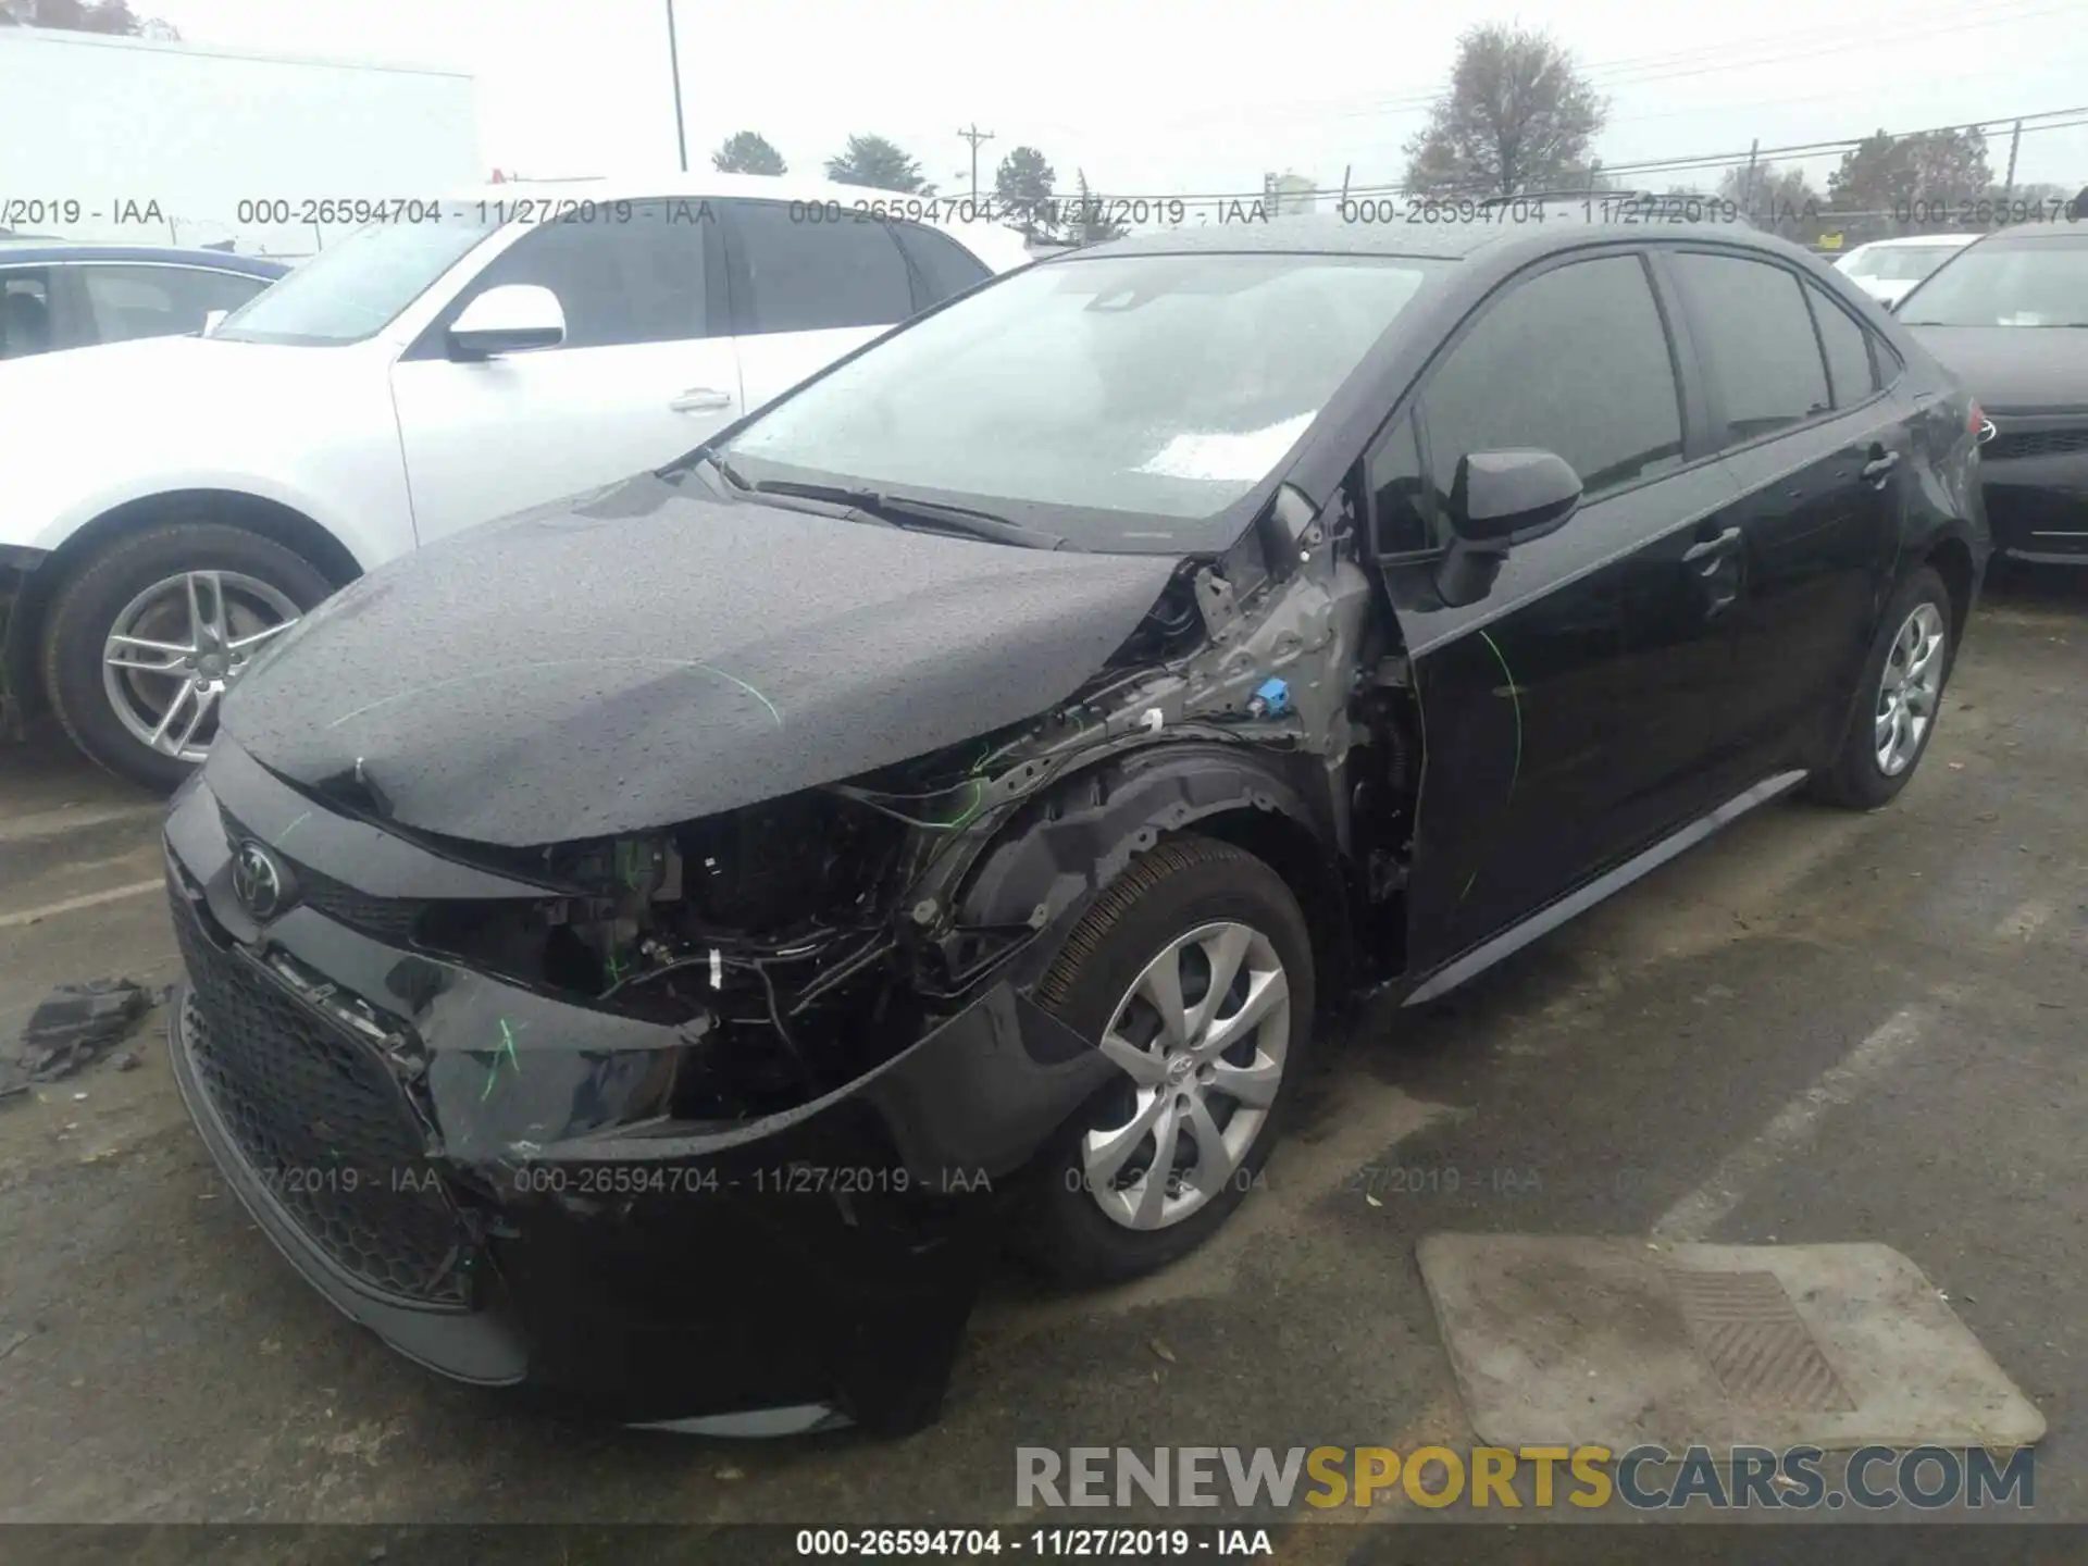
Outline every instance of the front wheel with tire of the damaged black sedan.
POLYGON ((1036 998, 1121 1077, 1048 1148, 1023 1249, 1075 1286, 1188 1255, 1259 1182, 1303 1075, 1313 952, 1297 898, 1240 848, 1165 841, 1096 898, 1036 998))

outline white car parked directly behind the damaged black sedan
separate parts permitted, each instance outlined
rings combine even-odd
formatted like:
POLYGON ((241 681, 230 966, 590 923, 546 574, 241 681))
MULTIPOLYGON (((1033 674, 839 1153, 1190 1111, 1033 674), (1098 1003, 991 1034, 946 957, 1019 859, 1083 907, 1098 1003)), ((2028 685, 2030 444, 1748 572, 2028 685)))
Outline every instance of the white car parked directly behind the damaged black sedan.
POLYGON ((1029 261, 940 207, 497 184, 386 213, 200 336, 0 365, 0 706, 48 702, 102 766, 173 787, 248 658, 351 578, 666 466, 1029 261))

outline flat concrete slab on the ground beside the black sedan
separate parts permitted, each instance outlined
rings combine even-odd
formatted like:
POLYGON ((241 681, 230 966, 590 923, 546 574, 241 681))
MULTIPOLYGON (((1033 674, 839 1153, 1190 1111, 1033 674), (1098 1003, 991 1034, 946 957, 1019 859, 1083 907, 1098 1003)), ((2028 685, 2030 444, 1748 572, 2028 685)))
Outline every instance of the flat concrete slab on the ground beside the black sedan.
POLYGON ((1885 1244, 1430 1234, 1422 1280, 1501 1447, 2027 1447, 2044 1416, 1885 1244))

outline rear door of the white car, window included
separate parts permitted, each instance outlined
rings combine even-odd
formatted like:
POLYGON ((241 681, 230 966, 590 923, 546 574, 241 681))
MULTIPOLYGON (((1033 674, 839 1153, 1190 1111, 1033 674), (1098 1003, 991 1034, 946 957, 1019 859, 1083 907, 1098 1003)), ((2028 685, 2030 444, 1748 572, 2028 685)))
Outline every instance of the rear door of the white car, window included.
POLYGON ((818 203, 716 207, 750 409, 915 313, 919 267, 892 223, 818 203))

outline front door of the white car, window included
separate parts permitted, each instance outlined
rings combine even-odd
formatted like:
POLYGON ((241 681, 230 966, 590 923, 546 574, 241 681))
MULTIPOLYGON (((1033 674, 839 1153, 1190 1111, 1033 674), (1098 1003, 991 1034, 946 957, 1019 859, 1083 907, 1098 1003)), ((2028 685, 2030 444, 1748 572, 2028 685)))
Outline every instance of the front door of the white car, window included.
POLYGON ((660 468, 739 418, 710 207, 614 203, 497 255, 393 365, 422 543, 660 468), (555 349, 449 357, 487 288, 537 284, 566 313, 555 349))

